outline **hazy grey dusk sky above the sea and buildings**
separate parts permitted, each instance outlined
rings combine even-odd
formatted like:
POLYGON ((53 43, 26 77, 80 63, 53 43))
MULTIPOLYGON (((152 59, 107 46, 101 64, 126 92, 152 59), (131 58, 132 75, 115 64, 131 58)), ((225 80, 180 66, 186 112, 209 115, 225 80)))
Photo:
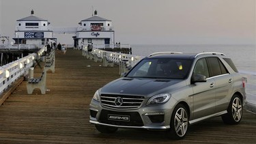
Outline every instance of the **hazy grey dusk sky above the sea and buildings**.
POLYGON ((78 27, 97 10, 123 44, 255 44, 255 0, 0 0, 0 35, 14 38, 32 9, 52 27, 78 27))

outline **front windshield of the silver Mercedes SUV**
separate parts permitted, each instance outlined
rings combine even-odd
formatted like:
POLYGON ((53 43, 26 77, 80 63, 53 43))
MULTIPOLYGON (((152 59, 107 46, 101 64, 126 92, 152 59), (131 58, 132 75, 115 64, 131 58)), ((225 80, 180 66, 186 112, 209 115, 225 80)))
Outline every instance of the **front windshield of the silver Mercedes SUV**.
POLYGON ((126 77, 184 79, 188 76, 191 63, 190 59, 143 59, 126 77))

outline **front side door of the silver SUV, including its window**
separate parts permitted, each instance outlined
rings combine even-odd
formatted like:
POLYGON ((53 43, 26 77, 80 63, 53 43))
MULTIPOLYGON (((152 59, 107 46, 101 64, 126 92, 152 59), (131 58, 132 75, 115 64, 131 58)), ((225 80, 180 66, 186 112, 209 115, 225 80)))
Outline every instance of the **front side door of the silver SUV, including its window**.
POLYGON ((194 92, 192 119, 205 117, 215 112, 216 84, 214 78, 210 77, 208 63, 205 58, 199 59, 195 64, 193 75, 195 74, 206 76, 207 81, 191 85, 194 92))

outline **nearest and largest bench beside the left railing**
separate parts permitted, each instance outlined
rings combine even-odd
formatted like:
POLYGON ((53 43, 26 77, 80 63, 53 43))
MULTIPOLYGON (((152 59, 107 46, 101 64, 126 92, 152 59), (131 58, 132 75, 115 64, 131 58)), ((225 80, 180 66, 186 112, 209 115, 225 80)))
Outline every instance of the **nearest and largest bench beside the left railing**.
POLYGON ((46 72, 42 72, 42 76, 39 78, 30 78, 27 81, 27 93, 32 94, 33 89, 40 89, 42 94, 46 93, 46 72))

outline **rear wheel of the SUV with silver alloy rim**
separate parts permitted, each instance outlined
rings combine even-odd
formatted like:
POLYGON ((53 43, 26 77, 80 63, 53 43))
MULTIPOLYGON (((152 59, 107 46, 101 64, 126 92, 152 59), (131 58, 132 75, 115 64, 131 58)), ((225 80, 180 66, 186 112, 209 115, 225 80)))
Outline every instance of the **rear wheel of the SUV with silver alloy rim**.
POLYGON ((239 124, 242 119, 242 100, 235 94, 231 98, 227 113, 222 115, 223 122, 225 124, 239 124))

